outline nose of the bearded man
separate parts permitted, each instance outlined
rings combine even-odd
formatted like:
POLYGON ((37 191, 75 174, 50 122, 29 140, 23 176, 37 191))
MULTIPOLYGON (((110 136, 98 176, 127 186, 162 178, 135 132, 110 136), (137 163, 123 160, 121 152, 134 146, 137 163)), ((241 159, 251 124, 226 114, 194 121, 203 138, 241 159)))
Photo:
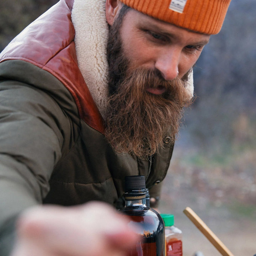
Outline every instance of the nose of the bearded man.
POLYGON ((180 63, 180 50, 172 49, 163 52, 155 62, 155 68, 161 73, 162 77, 169 81, 178 76, 178 65, 180 63))

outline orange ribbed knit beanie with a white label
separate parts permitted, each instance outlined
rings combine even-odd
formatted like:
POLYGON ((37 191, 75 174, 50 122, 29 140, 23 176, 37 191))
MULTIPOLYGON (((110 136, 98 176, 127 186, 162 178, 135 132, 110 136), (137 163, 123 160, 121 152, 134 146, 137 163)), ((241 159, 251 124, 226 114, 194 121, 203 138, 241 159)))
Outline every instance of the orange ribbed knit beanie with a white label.
POLYGON ((231 0, 120 0, 159 20, 192 31, 217 34, 231 0))

